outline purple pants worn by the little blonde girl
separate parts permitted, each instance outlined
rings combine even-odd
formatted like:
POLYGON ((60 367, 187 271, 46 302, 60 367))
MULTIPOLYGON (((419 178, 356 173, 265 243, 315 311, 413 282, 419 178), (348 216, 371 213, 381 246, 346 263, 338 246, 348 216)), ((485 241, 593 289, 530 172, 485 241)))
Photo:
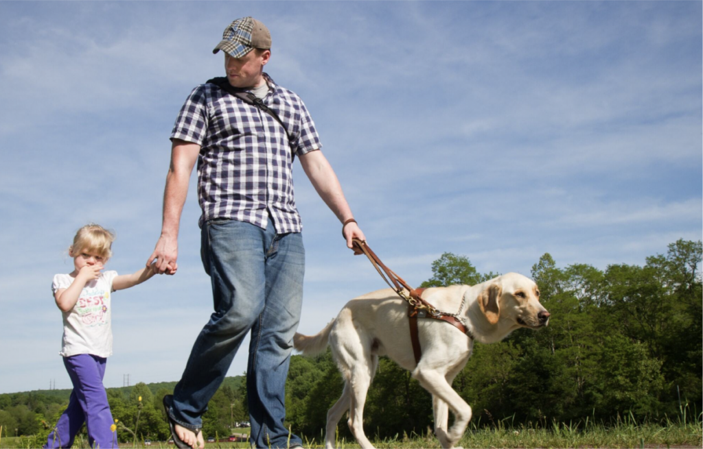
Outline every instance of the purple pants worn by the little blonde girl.
POLYGON ((105 361, 106 358, 91 354, 63 358, 73 391, 68 408, 58 419, 56 429, 49 434, 44 449, 70 448, 84 422, 91 448, 117 449, 117 431, 110 430, 114 422, 108 394, 103 387, 105 361))

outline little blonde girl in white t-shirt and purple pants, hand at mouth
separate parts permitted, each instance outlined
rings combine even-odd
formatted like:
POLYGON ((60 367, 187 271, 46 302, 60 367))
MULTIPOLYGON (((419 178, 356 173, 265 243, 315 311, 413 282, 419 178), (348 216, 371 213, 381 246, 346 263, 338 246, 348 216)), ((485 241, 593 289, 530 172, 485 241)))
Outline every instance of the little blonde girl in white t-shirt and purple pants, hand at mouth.
MULTIPOLYGON (((133 274, 101 272, 112 255, 115 236, 98 225, 78 229, 68 254, 70 274, 53 277, 53 297, 63 312, 63 364, 73 384, 68 408, 61 415, 44 449, 70 448, 85 422, 91 448, 117 448, 117 433, 103 387, 105 359, 112 355, 112 292, 146 281, 153 265, 133 274)), ((176 268, 167 270, 174 274, 176 268)))

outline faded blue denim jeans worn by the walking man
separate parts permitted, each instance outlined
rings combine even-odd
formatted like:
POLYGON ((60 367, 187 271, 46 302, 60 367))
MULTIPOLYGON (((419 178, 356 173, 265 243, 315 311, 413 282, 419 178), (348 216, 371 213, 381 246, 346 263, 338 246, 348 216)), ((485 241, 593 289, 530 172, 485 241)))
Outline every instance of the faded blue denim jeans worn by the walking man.
MULTIPOLYGON (((215 219, 202 225, 202 264, 212 280, 214 313, 193 344, 174 390, 172 418, 202 426, 201 416, 247 333, 247 398, 252 443, 288 448, 285 380, 302 307, 305 250, 299 233, 276 234, 246 222, 215 219)), ((290 445, 302 444, 290 436, 290 445)))

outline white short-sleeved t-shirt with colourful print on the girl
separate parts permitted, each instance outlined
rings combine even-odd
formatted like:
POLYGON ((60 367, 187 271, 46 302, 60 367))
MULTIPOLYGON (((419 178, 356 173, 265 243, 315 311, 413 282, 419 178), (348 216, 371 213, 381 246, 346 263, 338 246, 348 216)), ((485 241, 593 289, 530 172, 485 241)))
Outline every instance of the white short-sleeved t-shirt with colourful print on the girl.
MULTIPOLYGON (((77 354, 93 354, 98 357, 112 355, 112 280, 117 272, 103 272, 81 291, 76 305, 63 312, 64 357, 77 354)), ((53 276, 51 291, 56 294, 60 288, 68 288, 75 278, 69 274, 53 276)))

